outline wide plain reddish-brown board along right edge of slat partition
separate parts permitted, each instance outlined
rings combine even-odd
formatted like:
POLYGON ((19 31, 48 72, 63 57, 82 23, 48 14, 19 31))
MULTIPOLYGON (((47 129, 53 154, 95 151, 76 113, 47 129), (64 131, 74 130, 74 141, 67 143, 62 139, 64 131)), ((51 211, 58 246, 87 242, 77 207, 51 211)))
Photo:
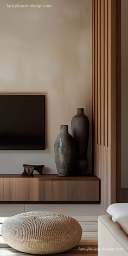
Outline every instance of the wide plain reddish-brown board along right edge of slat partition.
MULTIPOLYGON (((108 0, 108 86, 110 87, 110 181, 109 200, 116 202, 116 0, 108 0), (110 37, 110 39, 109 39, 110 37)), ((109 125, 109 124, 108 124, 109 125)), ((108 142, 109 143, 109 142, 108 142)))

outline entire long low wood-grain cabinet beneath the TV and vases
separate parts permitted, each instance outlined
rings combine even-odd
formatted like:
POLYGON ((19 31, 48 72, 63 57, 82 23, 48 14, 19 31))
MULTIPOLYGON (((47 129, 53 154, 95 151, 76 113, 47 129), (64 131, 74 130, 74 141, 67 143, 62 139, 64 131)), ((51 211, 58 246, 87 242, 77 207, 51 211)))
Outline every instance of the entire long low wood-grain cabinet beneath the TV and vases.
POLYGON ((0 203, 99 203, 100 179, 96 176, 0 175, 0 203))

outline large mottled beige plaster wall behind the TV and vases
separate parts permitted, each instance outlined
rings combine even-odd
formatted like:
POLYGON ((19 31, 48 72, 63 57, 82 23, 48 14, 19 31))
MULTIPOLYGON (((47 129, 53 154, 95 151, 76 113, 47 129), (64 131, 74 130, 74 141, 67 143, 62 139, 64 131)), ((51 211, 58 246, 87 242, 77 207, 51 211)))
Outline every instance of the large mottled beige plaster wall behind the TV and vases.
MULTIPOLYGON (((0 173, 21 173, 22 164, 45 164, 56 173, 54 141, 77 107, 91 123, 91 0, 0 1, 0 93, 46 93, 47 150, 0 151, 0 173), (7 8, 7 4, 52 8, 7 8)), ((91 171, 91 133, 89 172, 91 171)))

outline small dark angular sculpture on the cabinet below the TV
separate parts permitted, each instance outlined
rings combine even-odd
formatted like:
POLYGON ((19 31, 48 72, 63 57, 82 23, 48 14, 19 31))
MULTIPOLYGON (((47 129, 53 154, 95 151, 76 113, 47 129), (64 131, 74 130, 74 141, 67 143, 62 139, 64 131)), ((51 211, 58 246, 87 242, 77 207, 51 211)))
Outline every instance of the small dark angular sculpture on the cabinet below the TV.
POLYGON ((24 171, 22 173, 22 175, 30 175, 32 177, 34 177, 33 172, 34 170, 39 172, 40 175, 43 174, 43 167, 44 165, 31 165, 31 164, 23 164, 24 167, 24 171))

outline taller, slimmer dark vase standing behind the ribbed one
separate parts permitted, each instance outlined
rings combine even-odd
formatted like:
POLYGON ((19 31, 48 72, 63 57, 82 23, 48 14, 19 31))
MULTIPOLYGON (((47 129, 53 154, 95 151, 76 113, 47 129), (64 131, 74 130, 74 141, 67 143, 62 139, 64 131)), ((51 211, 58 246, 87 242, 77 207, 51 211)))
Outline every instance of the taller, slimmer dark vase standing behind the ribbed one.
POLYGON ((85 174, 88 168, 89 120, 84 114, 84 108, 77 108, 77 113, 72 118, 71 129, 76 148, 76 173, 85 174))

